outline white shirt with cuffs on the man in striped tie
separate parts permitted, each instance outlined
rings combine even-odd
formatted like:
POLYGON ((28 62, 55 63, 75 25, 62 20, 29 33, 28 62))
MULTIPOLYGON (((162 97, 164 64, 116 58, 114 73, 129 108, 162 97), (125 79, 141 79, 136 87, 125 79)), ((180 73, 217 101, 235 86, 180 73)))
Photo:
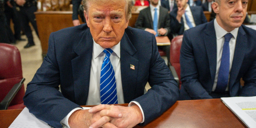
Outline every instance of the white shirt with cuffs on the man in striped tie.
MULTIPOLYGON (((120 42, 113 46, 111 48, 113 50, 113 53, 110 55, 110 62, 113 66, 114 72, 115 72, 115 79, 116 79, 116 91, 117 91, 117 101, 119 104, 125 103, 124 102, 124 94, 123 94, 123 87, 122 87, 122 79, 121 79, 121 67, 120 67, 120 42)), ((105 57, 105 53, 103 52, 104 48, 102 48, 99 44, 97 44, 93 40, 93 56, 91 59, 91 71, 90 71, 90 82, 89 82, 89 93, 86 105, 98 105, 100 104, 100 71, 102 67, 102 62, 105 57)), ((132 101, 129 103, 128 106, 132 105, 138 105, 142 115, 143 115, 143 121, 144 122, 144 112, 141 108, 141 105, 137 101, 132 101)), ((76 110, 79 110, 82 108, 75 108, 69 114, 63 118, 60 123, 64 124, 64 128, 70 128, 68 125, 68 119, 70 115, 75 112, 76 110)))

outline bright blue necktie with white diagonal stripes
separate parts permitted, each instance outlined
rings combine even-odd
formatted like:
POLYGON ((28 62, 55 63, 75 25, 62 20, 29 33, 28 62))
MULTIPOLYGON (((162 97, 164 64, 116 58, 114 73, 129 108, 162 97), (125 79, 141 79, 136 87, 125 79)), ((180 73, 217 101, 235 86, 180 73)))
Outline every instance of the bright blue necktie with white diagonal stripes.
POLYGON ((103 52, 106 56, 100 73, 100 101, 101 104, 117 104, 115 72, 109 59, 113 51, 106 48, 103 52))

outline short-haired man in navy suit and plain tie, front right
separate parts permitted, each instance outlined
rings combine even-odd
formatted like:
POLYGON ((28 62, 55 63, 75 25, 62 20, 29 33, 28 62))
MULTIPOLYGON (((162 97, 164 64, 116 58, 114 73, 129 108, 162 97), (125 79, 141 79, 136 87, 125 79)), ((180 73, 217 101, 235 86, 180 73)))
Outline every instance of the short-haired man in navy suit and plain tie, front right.
POLYGON ((216 18, 184 32, 180 100, 256 96, 256 31, 242 25, 247 4, 215 0, 216 18))

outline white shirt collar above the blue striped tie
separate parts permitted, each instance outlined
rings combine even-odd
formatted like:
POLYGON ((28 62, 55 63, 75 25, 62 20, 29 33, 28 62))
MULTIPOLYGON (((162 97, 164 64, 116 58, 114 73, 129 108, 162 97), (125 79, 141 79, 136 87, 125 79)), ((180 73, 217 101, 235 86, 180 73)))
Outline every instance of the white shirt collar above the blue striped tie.
MULTIPOLYGON (((120 42, 117 45, 113 46, 111 49, 120 58, 120 42)), ((97 44, 93 39, 94 57, 97 58, 103 52, 103 50, 104 50, 104 48, 102 48, 99 44, 97 44)))

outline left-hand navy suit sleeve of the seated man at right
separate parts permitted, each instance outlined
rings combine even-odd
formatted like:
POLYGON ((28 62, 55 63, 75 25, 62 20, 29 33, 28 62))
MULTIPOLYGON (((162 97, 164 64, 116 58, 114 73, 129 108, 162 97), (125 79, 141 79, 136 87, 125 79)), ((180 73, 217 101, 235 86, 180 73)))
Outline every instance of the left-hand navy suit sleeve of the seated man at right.
MULTIPOLYGON (((198 80, 198 71, 194 56, 194 49, 189 39, 192 33, 184 32, 181 46, 180 64, 182 86, 192 99, 212 99, 198 80)), ((197 51, 199 52, 199 51, 197 51)))

